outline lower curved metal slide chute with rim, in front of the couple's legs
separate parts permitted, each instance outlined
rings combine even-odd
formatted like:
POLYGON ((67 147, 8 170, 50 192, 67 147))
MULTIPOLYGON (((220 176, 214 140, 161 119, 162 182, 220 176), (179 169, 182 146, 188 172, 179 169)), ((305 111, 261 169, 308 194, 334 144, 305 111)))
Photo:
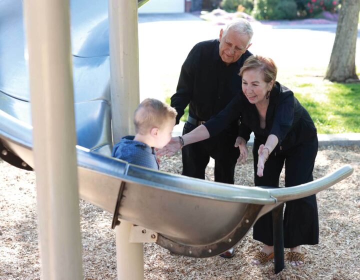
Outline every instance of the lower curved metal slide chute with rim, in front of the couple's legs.
MULTIPOLYGON (((33 166, 31 130, 0 110, 1 157, 10 163, 9 157, 17 158, 17 166, 33 166)), ((81 146, 76 150, 81 198, 113 212, 119 197, 119 218, 154 230, 156 242, 170 251, 195 257, 225 251, 261 215, 287 200, 317 193, 353 171, 345 165, 300 186, 249 187, 156 171, 81 146)))

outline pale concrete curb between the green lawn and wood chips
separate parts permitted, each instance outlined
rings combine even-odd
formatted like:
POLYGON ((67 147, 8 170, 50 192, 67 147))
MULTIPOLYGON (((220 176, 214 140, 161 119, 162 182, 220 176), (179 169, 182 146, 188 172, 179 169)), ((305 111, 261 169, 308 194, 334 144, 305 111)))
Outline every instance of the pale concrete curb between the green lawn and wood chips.
MULTIPOLYGON (((172 136, 179 136, 182 134, 183 121, 175 125, 172 136)), ((250 139, 247 142, 249 145, 253 143, 254 135, 251 133, 250 139)), ((338 133, 338 134, 317 134, 319 146, 339 145, 350 146, 360 145, 360 133, 338 133)))

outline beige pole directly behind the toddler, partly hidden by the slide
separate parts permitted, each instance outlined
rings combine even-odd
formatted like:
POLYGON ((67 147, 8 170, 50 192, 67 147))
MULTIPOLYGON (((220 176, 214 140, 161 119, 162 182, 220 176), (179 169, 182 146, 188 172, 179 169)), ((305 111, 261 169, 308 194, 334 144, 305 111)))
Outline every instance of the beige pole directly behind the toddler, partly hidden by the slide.
MULTIPOLYGON (((112 141, 134 134, 133 111, 139 103, 137 0, 108 0, 112 141)), ((117 279, 143 279, 142 243, 129 243, 131 223, 116 231, 117 279)))

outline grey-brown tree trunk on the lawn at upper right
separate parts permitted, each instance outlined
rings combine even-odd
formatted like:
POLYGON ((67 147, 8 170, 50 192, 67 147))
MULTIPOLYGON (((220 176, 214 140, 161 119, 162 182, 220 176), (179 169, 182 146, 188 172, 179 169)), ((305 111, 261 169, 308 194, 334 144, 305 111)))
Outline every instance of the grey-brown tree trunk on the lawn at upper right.
POLYGON ((355 51, 360 0, 342 0, 335 41, 325 79, 338 82, 358 80, 355 51))

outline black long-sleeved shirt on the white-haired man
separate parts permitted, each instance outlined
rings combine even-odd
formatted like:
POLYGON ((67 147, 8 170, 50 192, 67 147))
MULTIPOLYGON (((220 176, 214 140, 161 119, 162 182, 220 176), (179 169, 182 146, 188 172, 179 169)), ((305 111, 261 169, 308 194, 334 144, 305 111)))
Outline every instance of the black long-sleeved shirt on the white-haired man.
MULTIPOLYGON (((171 106, 177 111, 176 123, 189 104, 189 115, 206 121, 220 112, 241 89, 238 72, 251 53, 245 51, 240 58, 226 66, 219 55, 218 39, 197 43, 182 64, 171 106)), ((237 132, 236 121, 231 130, 237 132)))

